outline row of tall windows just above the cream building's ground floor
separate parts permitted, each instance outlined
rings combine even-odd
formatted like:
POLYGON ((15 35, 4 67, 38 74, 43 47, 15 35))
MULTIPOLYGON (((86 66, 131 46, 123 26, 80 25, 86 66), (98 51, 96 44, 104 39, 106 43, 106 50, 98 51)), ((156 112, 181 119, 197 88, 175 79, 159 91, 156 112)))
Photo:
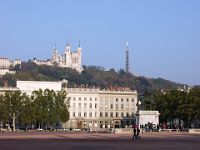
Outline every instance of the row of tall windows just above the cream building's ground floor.
MULTIPOLYGON (((78 112, 78 116, 76 116, 76 113, 73 112, 73 117, 98 117, 97 112, 78 112)), ((134 117, 134 113, 124 113, 124 112, 100 112, 99 117, 134 117)))

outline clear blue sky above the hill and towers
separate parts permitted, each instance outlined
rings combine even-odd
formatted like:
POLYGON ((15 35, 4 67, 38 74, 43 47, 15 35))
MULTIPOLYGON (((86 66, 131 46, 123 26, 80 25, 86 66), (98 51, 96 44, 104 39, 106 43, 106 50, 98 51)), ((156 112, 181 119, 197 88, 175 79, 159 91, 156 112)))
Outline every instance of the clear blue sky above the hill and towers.
POLYGON ((0 57, 48 59, 79 40, 83 65, 200 85, 199 0, 0 0, 0 57))

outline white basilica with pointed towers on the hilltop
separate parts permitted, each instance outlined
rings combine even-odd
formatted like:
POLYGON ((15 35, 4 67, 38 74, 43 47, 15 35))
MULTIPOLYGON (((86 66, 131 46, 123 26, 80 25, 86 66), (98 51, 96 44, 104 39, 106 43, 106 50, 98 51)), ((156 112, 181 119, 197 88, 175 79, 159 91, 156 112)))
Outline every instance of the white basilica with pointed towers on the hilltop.
POLYGON ((53 48, 53 55, 48 60, 33 59, 37 65, 58 66, 63 68, 72 68, 79 73, 82 71, 82 48, 79 44, 76 52, 71 51, 71 46, 67 44, 64 54, 59 54, 56 46, 53 48))

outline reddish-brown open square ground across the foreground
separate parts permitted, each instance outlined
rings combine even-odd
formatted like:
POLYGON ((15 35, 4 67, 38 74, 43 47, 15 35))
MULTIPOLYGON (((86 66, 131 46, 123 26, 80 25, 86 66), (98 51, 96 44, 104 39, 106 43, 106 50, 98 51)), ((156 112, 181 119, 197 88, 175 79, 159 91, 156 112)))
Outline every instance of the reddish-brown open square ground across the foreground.
POLYGON ((198 150, 200 135, 145 133, 141 141, 131 134, 18 132, 0 133, 0 150, 198 150))

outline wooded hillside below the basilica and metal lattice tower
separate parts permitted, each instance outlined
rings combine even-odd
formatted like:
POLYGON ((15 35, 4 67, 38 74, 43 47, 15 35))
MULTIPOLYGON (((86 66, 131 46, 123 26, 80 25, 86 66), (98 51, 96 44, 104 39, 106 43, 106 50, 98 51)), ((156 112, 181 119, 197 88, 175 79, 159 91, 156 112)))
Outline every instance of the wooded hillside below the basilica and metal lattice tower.
POLYGON ((174 83, 162 78, 147 78, 134 76, 124 70, 106 71, 102 67, 84 66, 81 74, 70 68, 58 68, 51 66, 38 66, 31 62, 23 62, 21 69, 16 69, 15 75, 5 75, 0 77, 0 86, 4 81, 8 81, 9 86, 16 86, 16 80, 35 80, 35 81, 60 81, 68 80, 68 87, 100 87, 100 88, 130 88, 136 89, 140 94, 144 91, 154 91, 160 89, 177 88, 181 84, 174 83))

